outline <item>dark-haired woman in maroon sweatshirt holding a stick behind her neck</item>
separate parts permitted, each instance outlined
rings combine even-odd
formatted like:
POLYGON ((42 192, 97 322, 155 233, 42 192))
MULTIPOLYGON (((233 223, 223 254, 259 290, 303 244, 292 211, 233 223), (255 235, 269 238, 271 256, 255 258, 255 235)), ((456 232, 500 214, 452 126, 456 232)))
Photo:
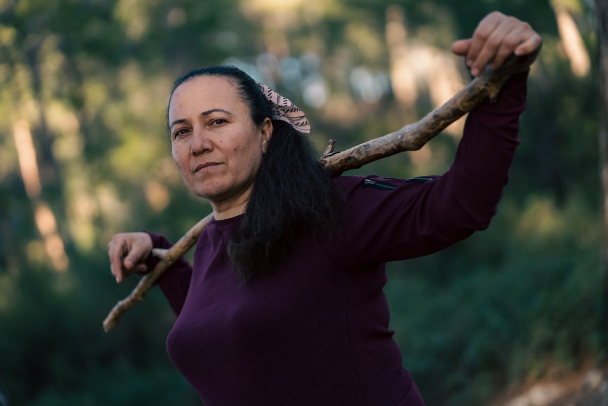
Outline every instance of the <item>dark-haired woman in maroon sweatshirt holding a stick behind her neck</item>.
MULTIPOLYGON (((525 22, 492 13, 452 50, 476 76, 511 53, 535 56, 541 42, 525 22)), ((215 219, 193 268, 181 261, 159 284, 178 315, 168 353, 207 406, 424 404, 388 328, 384 263, 488 226, 519 143, 526 78, 514 75, 496 103, 469 114, 446 174, 406 181, 330 179, 300 134, 302 114, 277 114, 280 97, 238 69, 176 81, 173 157, 215 219)), ((150 269, 151 249, 169 246, 153 233, 118 234, 112 274, 120 283, 150 269)))

